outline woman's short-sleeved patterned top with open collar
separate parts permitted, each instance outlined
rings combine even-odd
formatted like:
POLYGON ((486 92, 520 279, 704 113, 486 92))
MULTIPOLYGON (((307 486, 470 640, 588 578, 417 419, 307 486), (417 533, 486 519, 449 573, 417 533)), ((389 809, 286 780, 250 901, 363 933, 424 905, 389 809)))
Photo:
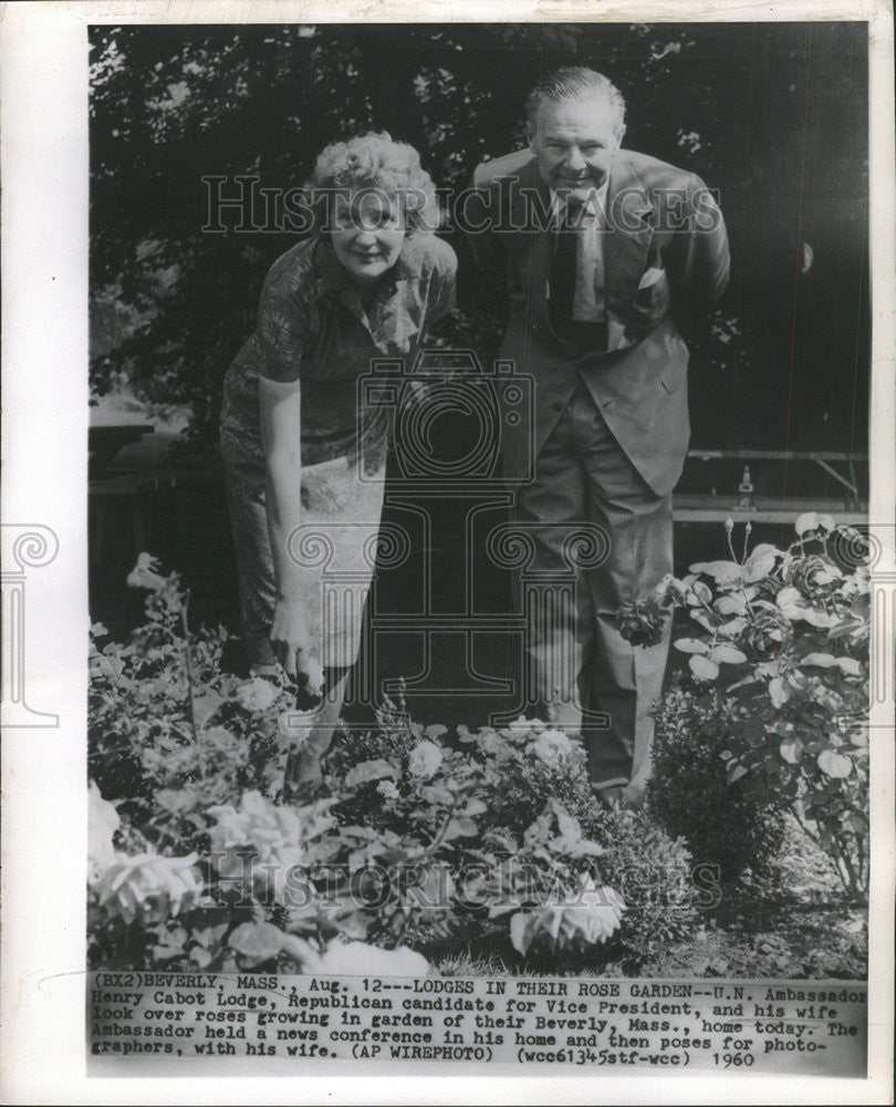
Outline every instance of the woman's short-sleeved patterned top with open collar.
POLYGON ((358 377, 376 359, 403 359, 410 370, 424 331, 454 307, 456 270, 447 242, 410 236, 365 310, 325 238, 280 257, 264 281, 257 331, 225 381, 221 445, 230 464, 263 472, 258 377, 265 376, 301 381, 303 465, 363 457, 365 468, 377 468, 388 413, 360 410, 358 377))

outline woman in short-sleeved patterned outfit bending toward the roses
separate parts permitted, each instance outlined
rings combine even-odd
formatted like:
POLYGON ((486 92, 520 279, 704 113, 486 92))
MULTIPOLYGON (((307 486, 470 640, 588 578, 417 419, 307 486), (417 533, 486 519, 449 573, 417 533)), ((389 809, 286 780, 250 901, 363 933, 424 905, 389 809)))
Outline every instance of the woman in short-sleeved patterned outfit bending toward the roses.
POLYGON ((357 656, 383 504, 389 421, 358 379, 376 359, 410 366, 457 269, 419 156, 386 134, 327 146, 310 196, 314 236, 271 267, 221 413, 249 663, 325 690, 296 765, 306 788, 357 656))

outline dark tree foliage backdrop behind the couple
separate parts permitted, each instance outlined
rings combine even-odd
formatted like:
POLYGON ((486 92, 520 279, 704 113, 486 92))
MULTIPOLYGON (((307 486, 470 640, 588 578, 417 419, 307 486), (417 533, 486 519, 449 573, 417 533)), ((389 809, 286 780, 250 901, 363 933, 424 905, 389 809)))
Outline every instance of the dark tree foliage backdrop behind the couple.
MULTIPOLYGON (((535 80, 575 63, 622 89, 627 146, 719 189, 734 265, 694 346, 698 430, 702 420, 725 444, 780 400, 750 444, 768 445, 764 433, 815 447, 835 436, 842 447, 846 434, 861 446, 864 34, 857 23, 94 27, 93 389, 125 373, 147 397, 191 406, 196 445, 213 438, 223 373, 254 325, 267 269, 294 236, 237 232, 236 213, 228 232, 204 231, 206 178, 225 177, 225 195, 240 175, 296 188, 326 143, 383 128, 420 151, 441 188, 460 188, 483 157, 524 144, 535 80), (804 241, 809 279, 799 275, 804 241), (793 402, 799 425, 786 414, 793 402), (727 426, 701 416, 719 403, 732 412, 727 426)), ((497 304, 447 234, 461 254, 449 337, 487 360, 497 304)))

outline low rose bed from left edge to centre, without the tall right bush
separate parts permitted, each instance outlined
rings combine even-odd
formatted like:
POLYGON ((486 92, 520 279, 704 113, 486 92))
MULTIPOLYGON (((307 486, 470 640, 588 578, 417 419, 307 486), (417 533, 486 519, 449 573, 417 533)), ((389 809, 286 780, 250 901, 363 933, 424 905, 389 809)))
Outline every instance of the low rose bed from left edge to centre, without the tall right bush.
POLYGON ((288 801, 294 690, 222 673, 225 634, 190 632, 176 575, 144 556, 132 582, 147 622, 92 635, 95 964, 336 972, 375 946, 365 972, 459 949, 600 965, 692 930, 688 851, 602 807, 577 742, 539 721, 448 734, 387 703, 334 746, 329 796, 288 801))

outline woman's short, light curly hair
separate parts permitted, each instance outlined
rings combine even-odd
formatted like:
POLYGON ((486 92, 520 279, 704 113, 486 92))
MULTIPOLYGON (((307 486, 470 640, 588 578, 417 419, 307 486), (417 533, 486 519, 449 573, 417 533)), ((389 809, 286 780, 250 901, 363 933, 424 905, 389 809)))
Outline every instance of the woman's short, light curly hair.
POLYGON ((420 167, 420 155, 385 131, 331 143, 317 157, 306 188, 319 234, 330 226, 333 196, 358 188, 397 200, 408 235, 431 235, 439 226, 436 186, 420 167))

